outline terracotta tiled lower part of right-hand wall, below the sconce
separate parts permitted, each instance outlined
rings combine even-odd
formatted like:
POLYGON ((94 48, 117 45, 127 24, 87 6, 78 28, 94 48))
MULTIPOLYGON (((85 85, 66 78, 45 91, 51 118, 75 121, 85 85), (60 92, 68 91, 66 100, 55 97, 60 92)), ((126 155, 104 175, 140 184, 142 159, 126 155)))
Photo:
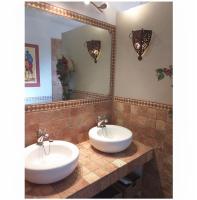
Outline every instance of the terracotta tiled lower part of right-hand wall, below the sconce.
POLYGON ((128 99, 113 102, 112 123, 132 130, 134 139, 155 148, 156 168, 148 167, 149 183, 145 183, 146 197, 172 197, 172 119, 171 106, 136 104, 128 99), (156 176, 156 174, 159 174, 156 176), (159 178, 158 178, 159 177, 159 178), (151 186, 161 185, 161 191, 151 186), (149 187, 147 187, 147 185, 149 187), (147 188, 147 189, 146 189, 147 188), (150 194, 151 192, 151 194, 150 194), (154 194, 155 193, 155 194, 154 194))

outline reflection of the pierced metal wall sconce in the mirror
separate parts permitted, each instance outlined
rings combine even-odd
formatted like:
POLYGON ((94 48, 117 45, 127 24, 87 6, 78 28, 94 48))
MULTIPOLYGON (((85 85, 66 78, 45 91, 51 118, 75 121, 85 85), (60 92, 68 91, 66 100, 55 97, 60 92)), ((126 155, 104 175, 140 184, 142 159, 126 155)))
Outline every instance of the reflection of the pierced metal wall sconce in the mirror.
POLYGON ((101 51, 101 41, 100 40, 90 40, 86 41, 87 49, 90 56, 94 59, 94 62, 97 63, 98 56, 101 51))

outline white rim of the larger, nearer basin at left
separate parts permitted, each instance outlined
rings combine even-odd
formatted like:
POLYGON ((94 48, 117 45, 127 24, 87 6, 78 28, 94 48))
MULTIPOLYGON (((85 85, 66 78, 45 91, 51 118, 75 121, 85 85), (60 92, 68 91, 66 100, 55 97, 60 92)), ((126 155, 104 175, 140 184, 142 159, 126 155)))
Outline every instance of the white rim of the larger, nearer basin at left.
MULTIPOLYGON (((48 142, 48 141, 45 141, 44 143, 46 143, 46 142, 48 142)), ((28 165, 28 162, 27 163, 25 162, 25 170, 32 170, 32 171, 53 170, 53 169, 67 166, 79 158, 79 149, 75 144, 72 144, 71 142, 67 142, 67 141, 63 141, 63 140, 53 140, 53 142, 55 143, 54 145, 66 146, 68 148, 71 147, 71 148, 69 148, 72 151, 72 156, 70 157, 70 160, 66 161, 66 162, 62 162, 61 165, 60 164, 52 165, 52 166, 47 166, 45 168, 35 168, 35 167, 31 166, 31 164, 28 165)), ((29 154, 32 153, 33 151, 37 151, 38 148, 39 148, 39 146, 36 143, 25 147, 25 161, 26 161, 26 159, 28 159, 27 157, 29 156, 29 154)), ((35 159, 35 158, 33 158, 33 159, 35 159)))

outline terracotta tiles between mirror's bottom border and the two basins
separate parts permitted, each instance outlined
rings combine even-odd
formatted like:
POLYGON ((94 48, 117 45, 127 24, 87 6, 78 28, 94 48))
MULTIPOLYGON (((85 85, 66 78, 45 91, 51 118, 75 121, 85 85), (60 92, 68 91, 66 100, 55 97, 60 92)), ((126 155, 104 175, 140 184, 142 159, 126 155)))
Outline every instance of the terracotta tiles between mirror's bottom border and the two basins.
POLYGON ((98 115, 111 121, 112 101, 82 104, 57 110, 25 113, 25 145, 36 142, 36 132, 46 128, 52 139, 79 143, 88 139, 88 130, 96 125, 98 115))

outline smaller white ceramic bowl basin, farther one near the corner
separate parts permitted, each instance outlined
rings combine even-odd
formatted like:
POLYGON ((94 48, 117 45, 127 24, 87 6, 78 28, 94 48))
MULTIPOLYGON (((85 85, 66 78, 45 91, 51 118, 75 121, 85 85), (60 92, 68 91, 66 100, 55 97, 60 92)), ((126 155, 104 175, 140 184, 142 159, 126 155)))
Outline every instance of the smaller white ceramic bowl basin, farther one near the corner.
POLYGON ((106 125, 89 130, 90 143, 96 149, 116 153, 125 150, 132 142, 132 132, 122 126, 106 125))

